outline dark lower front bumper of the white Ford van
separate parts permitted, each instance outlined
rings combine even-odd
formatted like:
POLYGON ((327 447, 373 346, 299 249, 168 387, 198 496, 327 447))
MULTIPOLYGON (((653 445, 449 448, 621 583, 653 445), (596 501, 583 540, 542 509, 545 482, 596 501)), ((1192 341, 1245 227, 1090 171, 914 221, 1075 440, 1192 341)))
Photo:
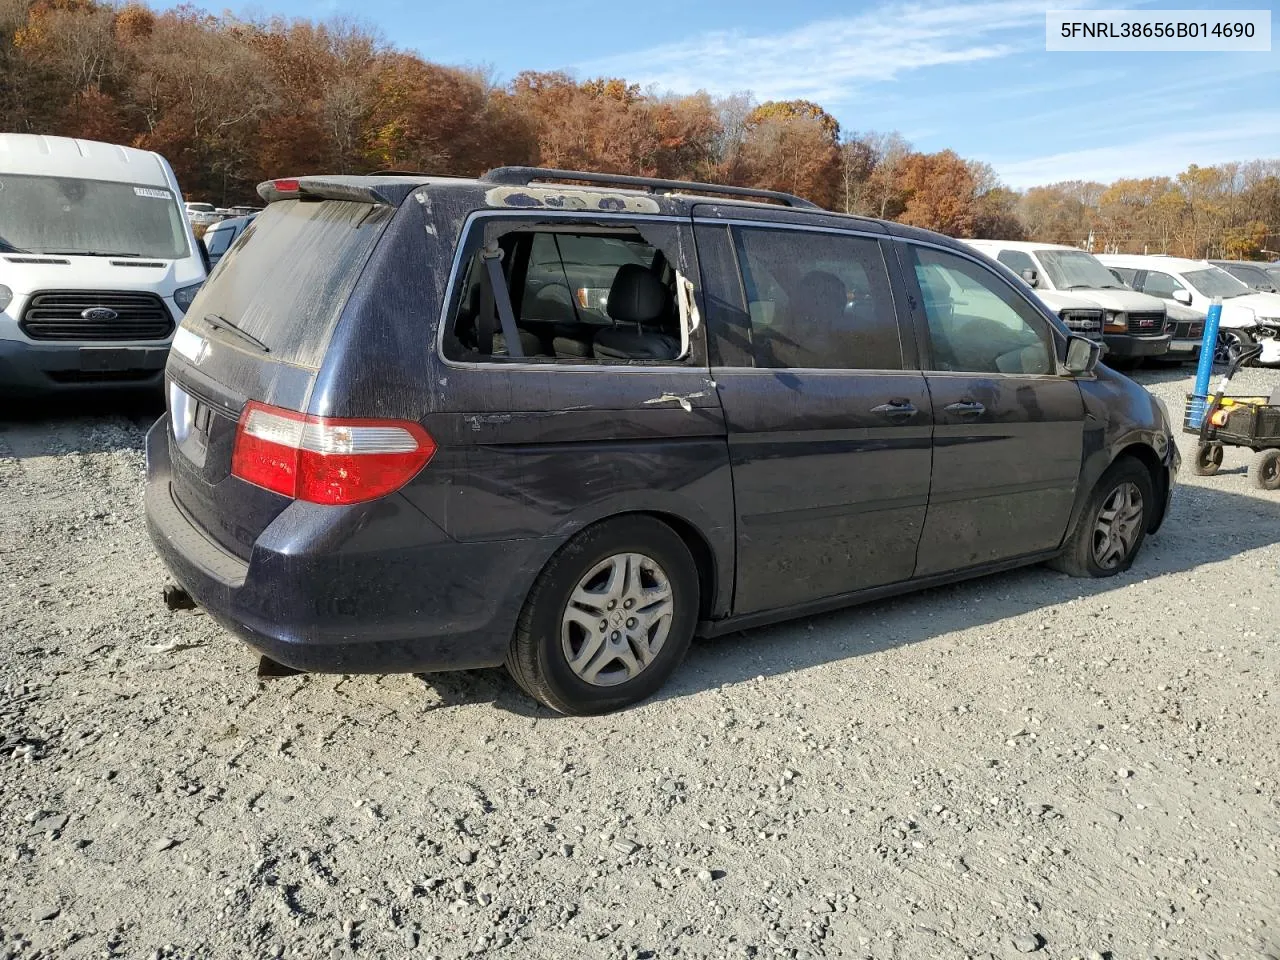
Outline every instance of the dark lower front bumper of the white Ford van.
POLYGON ((168 357, 168 343, 81 346, 0 339, 0 393, 160 389, 168 357))

